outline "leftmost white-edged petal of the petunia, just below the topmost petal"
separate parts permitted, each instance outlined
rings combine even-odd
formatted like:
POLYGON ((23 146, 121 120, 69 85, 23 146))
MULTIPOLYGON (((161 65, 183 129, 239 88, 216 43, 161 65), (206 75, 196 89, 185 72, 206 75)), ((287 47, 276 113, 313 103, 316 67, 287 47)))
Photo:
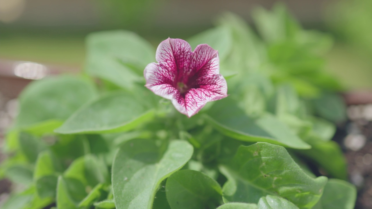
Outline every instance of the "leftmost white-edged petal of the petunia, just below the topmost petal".
POLYGON ((155 62, 148 64, 145 67, 143 74, 146 80, 146 87, 160 84, 172 85, 175 76, 171 71, 162 68, 155 62))

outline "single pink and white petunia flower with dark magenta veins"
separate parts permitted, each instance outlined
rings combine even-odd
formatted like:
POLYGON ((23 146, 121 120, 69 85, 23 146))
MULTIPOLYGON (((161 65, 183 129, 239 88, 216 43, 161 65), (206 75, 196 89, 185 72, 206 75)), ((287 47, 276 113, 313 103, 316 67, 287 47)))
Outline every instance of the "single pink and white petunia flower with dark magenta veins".
POLYGON ((182 39, 168 38, 156 50, 156 61, 144 70, 146 87, 170 99, 182 114, 191 117, 207 102, 227 97, 227 83, 219 74, 218 51, 208 44, 191 50, 182 39))

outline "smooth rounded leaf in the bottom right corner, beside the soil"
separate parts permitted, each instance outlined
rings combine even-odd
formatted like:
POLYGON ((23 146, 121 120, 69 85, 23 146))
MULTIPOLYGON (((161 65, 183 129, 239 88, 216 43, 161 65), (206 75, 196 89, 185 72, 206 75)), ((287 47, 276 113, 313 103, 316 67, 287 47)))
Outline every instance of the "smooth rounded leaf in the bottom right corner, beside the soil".
POLYGON ((313 209, 353 209, 356 188, 353 184, 339 179, 330 179, 325 184, 323 196, 313 209))

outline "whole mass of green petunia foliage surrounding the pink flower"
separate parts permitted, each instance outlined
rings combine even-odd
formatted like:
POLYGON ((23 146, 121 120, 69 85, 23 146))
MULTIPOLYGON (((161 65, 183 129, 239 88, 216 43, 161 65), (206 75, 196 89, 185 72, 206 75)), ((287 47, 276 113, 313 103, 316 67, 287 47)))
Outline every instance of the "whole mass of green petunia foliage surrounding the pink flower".
POLYGON ((227 14, 189 39, 219 51, 230 94, 191 118, 144 87, 147 41, 90 35, 84 76, 34 81, 20 95, 0 173, 17 189, 2 208, 353 208, 331 141, 344 105, 322 71, 329 36, 281 5, 254 19, 260 36, 227 14))

